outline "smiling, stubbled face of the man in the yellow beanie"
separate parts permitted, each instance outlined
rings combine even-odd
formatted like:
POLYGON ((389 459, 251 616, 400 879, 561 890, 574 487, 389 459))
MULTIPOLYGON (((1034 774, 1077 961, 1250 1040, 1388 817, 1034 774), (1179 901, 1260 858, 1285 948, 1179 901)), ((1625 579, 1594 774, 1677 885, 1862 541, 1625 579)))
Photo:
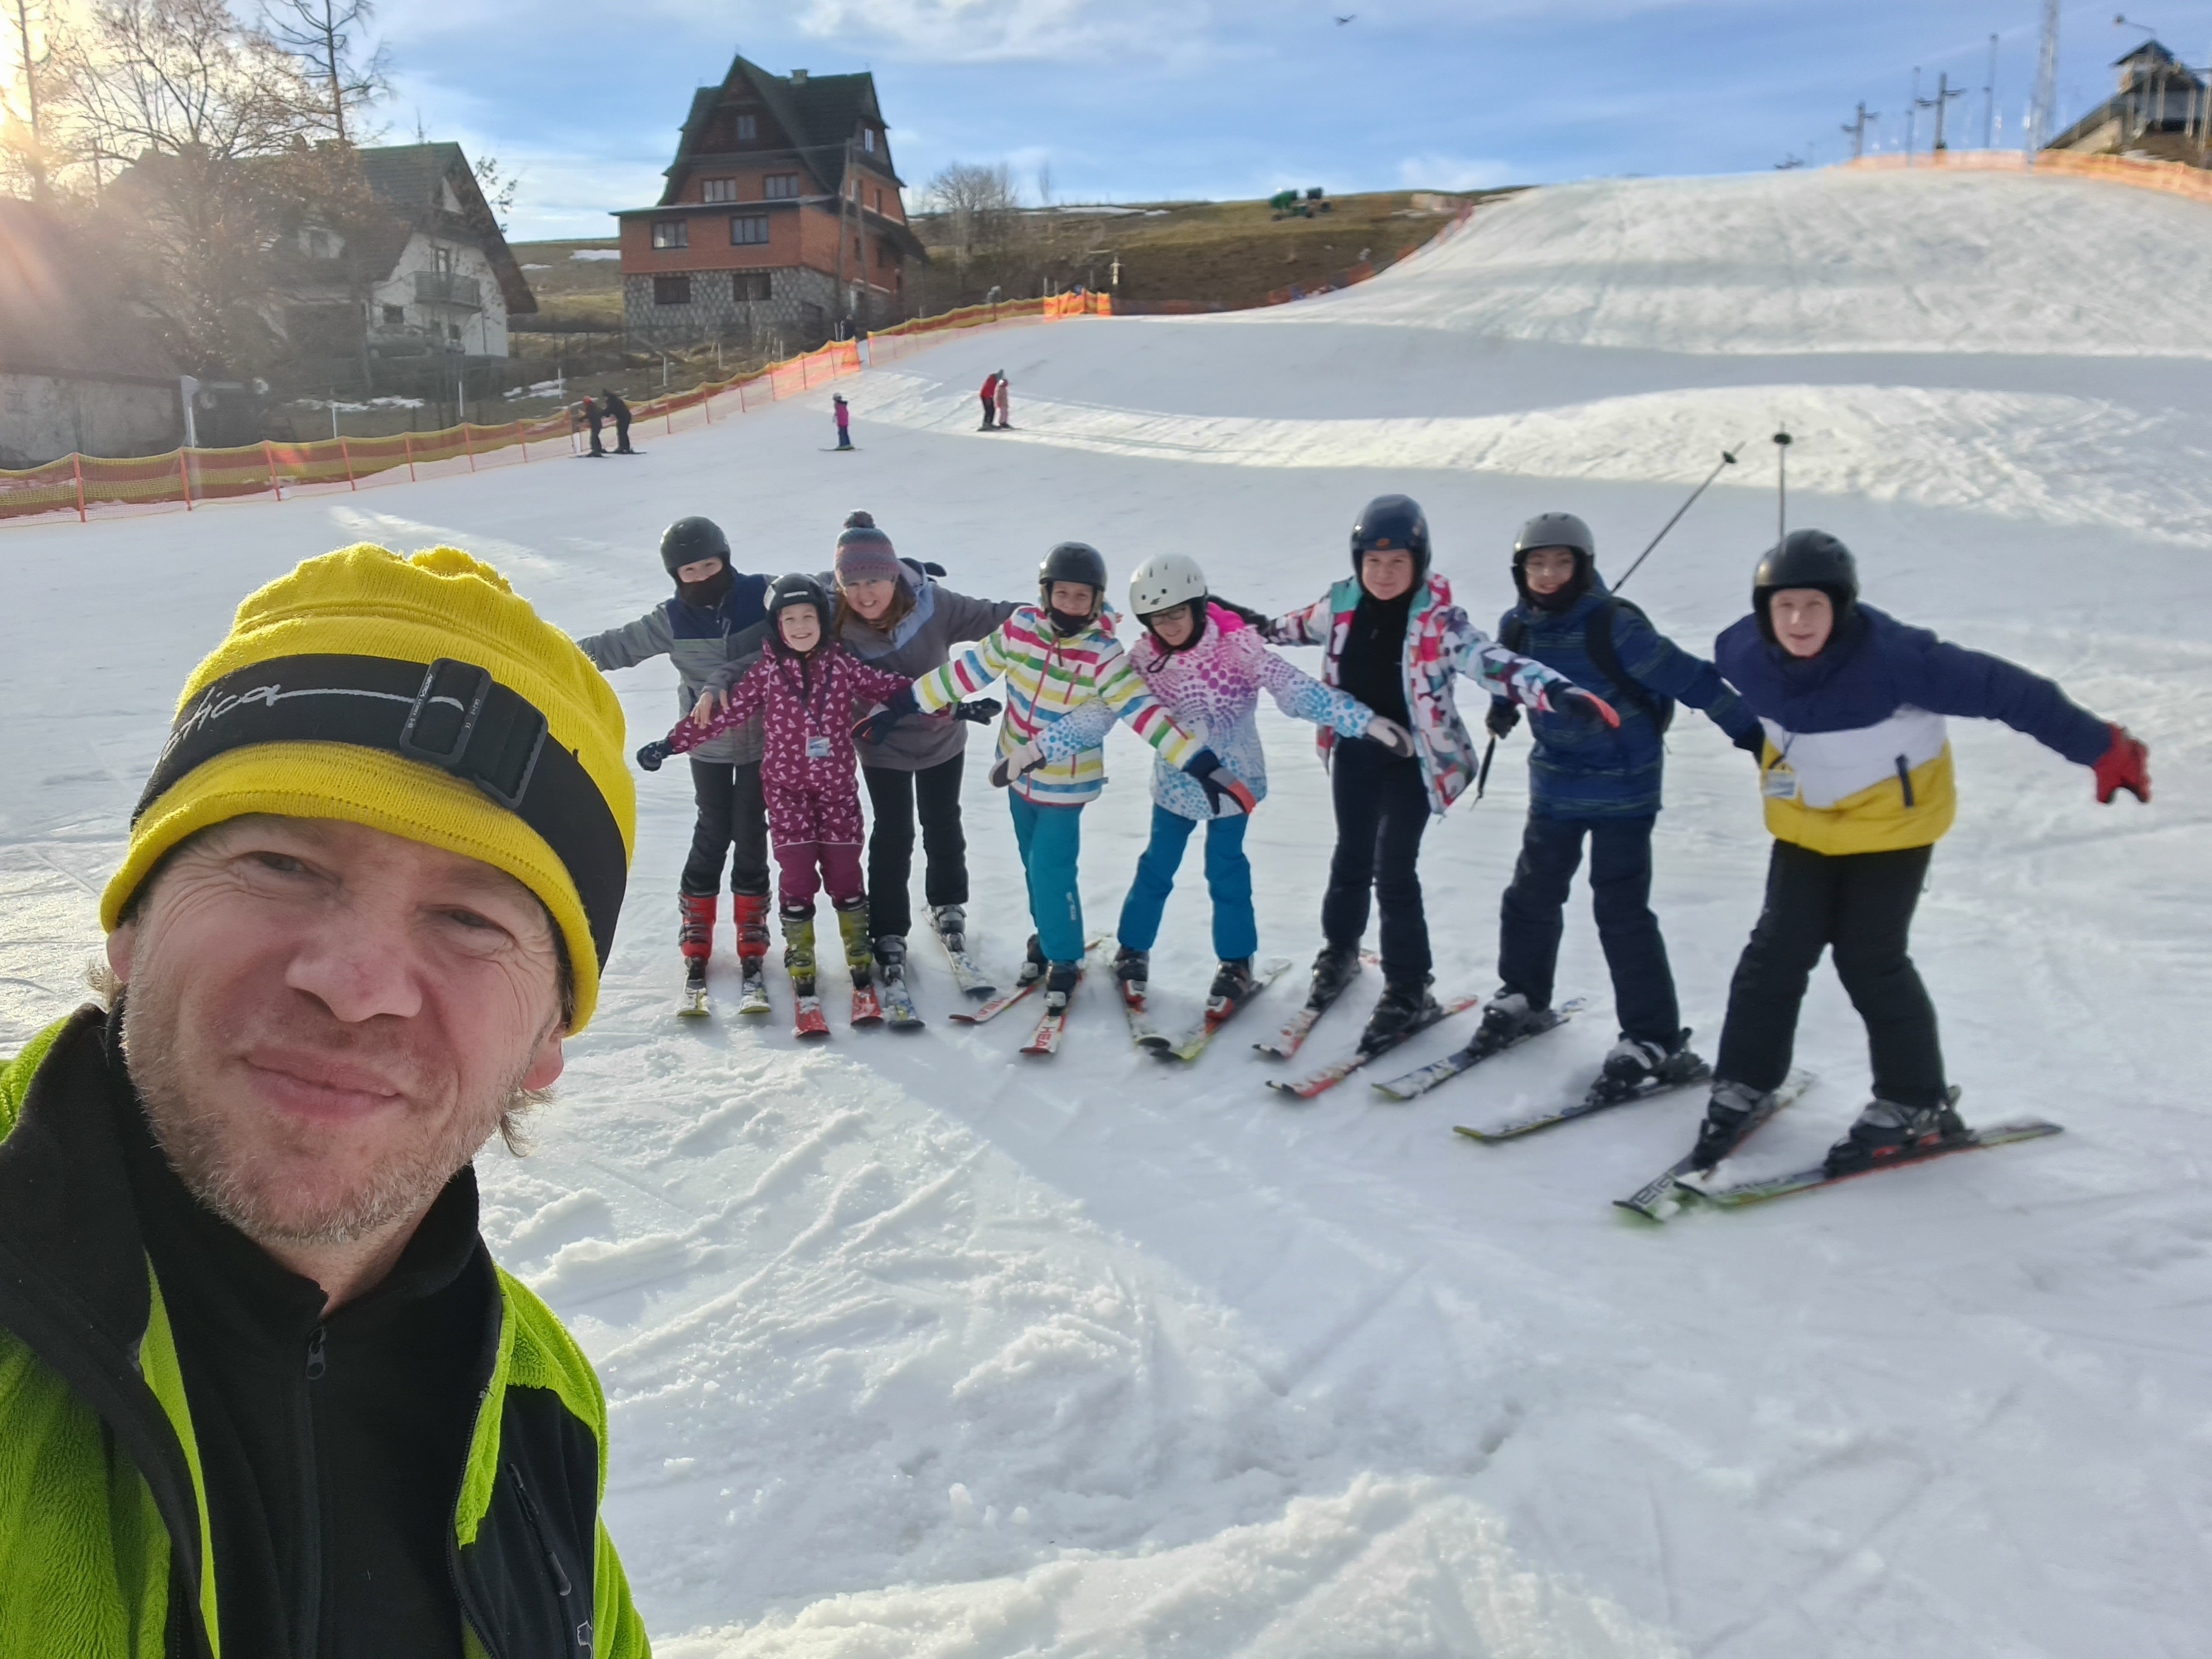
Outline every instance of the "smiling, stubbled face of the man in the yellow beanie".
POLYGON ((261 1245, 420 1214, 562 1071, 538 898, 356 823, 257 814, 184 843, 108 964, 164 1152, 261 1245))

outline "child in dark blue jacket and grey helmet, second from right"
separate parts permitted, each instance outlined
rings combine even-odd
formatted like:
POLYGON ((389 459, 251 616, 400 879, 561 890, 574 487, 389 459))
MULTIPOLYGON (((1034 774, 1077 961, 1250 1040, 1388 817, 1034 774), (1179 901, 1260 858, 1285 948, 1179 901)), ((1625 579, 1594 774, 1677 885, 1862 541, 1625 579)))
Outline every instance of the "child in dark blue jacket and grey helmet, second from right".
MULTIPOLYGON (((1659 918, 1650 909, 1652 825, 1659 814, 1663 734, 1674 703, 1705 710, 1739 748, 1759 752, 1759 719, 1721 684, 1712 664, 1650 626, 1597 575, 1597 542, 1573 513, 1537 513, 1513 546, 1520 604, 1498 624, 1506 650, 1535 657, 1606 697, 1617 728, 1531 714, 1528 825, 1500 905, 1498 995, 1482 1011, 1489 1042, 1513 1042, 1544 1022, 1566 896, 1590 843, 1597 940, 1613 971, 1621 1040, 1606 1055, 1599 1091, 1630 1095, 1657 1082, 1690 1082, 1703 1060, 1690 1051, 1674 1000, 1659 918)), ((1489 730, 1520 721, 1509 699, 1491 701, 1489 730)))

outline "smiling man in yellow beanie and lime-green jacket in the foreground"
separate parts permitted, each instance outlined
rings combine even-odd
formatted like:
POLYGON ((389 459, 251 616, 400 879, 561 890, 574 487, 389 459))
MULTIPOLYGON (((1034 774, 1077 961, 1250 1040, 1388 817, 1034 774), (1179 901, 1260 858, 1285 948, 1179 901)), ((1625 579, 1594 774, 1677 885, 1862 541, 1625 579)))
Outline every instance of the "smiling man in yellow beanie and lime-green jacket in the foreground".
POLYGON ((199 664, 0 1068, 0 1655, 646 1652, 606 1402, 471 1159, 591 1020, 622 710, 484 564, 352 546, 199 664))

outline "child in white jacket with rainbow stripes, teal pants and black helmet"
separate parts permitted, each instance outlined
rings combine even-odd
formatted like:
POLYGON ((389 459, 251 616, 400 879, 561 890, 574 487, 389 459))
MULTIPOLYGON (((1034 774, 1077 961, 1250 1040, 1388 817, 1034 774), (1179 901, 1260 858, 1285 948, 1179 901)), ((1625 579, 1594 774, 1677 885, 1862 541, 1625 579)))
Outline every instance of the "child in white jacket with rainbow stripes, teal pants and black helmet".
POLYGON ((1106 785, 1106 752, 1086 743, 1066 759, 1048 759, 1040 737, 1055 721, 1099 701, 1126 721, 1170 765, 1181 765, 1210 803, 1223 796, 1250 807, 1243 783, 1221 757, 1186 732, 1159 706, 1113 637, 1106 611, 1106 560, 1086 542, 1062 542, 1037 566, 1037 604, 1024 604, 978 646, 945 668, 914 681, 869 726, 880 741, 889 721, 920 708, 931 712, 1006 681, 1006 719, 998 728, 998 765, 991 783, 1006 785, 1013 841, 1029 887, 1029 936, 1020 984, 1044 978, 1046 1013, 1066 1009, 1084 958, 1084 900, 1075 887, 1082 810, 1106 785))

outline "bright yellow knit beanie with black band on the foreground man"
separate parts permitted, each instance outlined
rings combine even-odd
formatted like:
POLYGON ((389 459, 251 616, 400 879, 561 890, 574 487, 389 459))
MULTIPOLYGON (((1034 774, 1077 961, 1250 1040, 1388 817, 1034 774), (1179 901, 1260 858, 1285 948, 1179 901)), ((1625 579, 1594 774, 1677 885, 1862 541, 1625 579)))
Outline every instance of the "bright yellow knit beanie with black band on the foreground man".
POLYGON ((250 593, 184 684, 102 927, 161 854, 248 812, 343 818, 504 869, 566 942, 571 1031, 591 1020, 637 841, 622 706, 489 564, 361 544, 250 593))

